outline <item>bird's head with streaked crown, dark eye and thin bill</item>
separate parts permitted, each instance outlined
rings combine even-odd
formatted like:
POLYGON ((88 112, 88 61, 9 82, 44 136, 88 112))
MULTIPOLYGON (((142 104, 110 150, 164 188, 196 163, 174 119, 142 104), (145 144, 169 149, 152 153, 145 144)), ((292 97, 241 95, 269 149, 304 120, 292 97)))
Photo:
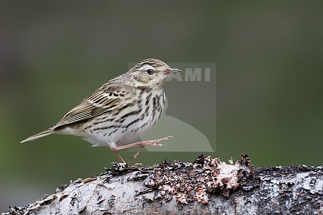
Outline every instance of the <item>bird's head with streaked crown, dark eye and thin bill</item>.
POLYGON ((146 59, 139 62, 131 68, 126 75, 129 75, 129 81, 134 86, 146 86, 152 88, 161 88, 166 78, 176 72, 178 69, 171 69, 165 62, 158 59, 146 59))

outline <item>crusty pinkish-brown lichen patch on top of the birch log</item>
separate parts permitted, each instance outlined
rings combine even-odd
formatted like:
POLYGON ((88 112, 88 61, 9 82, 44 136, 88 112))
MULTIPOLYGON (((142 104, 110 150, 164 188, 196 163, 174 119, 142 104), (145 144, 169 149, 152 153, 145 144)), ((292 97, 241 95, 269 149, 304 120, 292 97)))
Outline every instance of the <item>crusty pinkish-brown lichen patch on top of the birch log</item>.
POLYGON ((193 163, 165 160, 155 166, 145 185, 158 189, 156 197, 169 194, 181 204, 193 201, 207 204, 212 193, 229 196, 230 192, 252 178, 253 167, 247 154, 242 154, 242 160, 235 164, 201 155, 193 163))

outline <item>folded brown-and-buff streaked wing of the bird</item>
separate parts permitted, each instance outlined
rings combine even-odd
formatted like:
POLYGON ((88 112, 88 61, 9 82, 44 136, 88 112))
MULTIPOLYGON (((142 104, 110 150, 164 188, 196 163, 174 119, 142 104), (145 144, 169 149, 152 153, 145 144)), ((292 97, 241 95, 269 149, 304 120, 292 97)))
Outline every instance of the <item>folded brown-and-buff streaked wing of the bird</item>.
POLYGON ((117 90, 115 87, 109 88, 103 85, 97 89, 92 95, 85 98, 80 104, 69 111, 54 128, 86 120, 104 112, 111 111, 126 93, 117 90))

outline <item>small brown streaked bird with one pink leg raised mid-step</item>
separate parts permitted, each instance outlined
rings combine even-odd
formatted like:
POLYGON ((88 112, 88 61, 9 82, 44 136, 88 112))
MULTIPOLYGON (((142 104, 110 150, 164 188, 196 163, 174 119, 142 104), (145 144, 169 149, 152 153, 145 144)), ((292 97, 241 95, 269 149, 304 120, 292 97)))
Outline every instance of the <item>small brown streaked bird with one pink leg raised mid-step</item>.
POLYGON ((179 69, 172 69, 159 59, 146 59, 128 72, 104 83, 55 126, 30 136, 20 143, 34 141, 51 134, 75 135, 92 146, 107 146, 118 150, 141 146, 137 157, 146 145, 162 146, 161 141, 172 138, 131 143, 156 125, 165 106, 163 84, 166 78, 179 69))

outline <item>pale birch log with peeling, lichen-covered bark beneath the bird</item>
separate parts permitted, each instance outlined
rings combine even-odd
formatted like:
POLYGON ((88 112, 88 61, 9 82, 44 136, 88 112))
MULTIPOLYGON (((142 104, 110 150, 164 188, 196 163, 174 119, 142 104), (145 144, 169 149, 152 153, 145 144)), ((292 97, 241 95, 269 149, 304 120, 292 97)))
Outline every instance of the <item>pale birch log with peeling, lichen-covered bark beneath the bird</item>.
POLYGON ((201 155, 153 167, 115 163, 2 215, 323 215, 323 168, 253 168, 201 155))

